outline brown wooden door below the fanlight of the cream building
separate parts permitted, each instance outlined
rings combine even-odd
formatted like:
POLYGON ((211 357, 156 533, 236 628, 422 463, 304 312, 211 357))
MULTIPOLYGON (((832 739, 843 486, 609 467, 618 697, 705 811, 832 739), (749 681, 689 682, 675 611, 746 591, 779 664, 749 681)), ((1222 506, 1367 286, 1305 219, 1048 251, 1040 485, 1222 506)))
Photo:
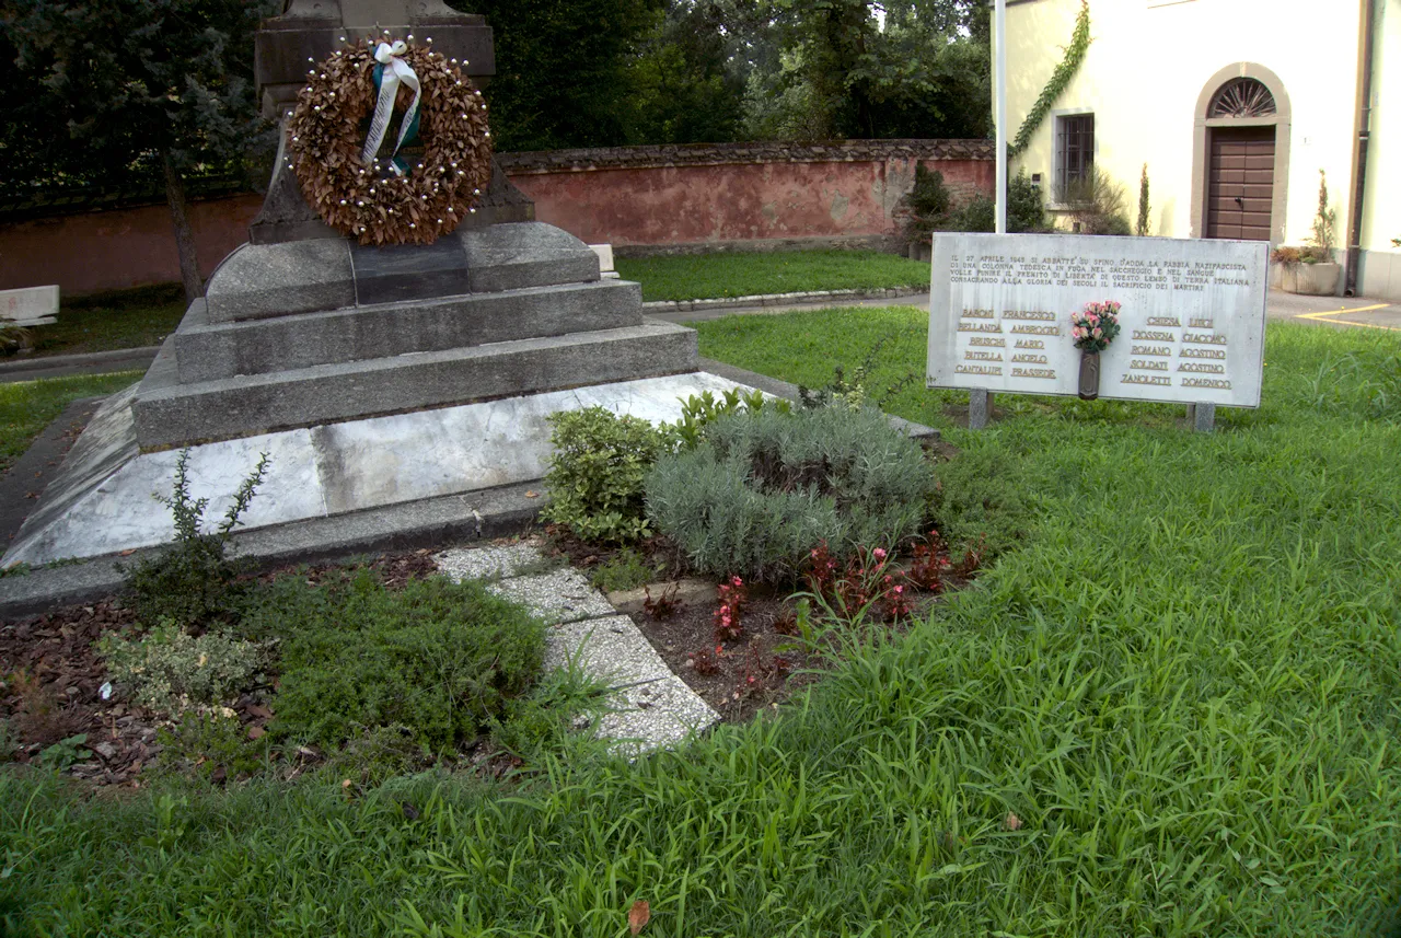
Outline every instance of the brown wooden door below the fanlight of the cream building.
POLYGON ((1275 200, 1275 129, 1212 127, 1206 237, 1269 241, 1275 200))

